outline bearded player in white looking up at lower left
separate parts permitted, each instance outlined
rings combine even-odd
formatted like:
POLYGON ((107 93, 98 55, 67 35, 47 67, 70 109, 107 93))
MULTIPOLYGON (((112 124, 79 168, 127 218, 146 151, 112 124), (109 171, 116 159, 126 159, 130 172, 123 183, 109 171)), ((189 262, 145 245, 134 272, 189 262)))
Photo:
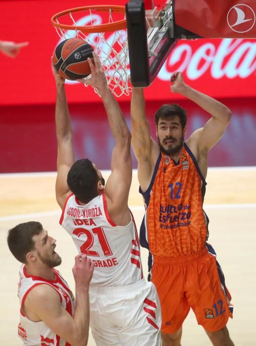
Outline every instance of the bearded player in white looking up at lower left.
POLYGON ((54 251, 56 240, 40 222, 17 225, 8 232, 13 256, 22 262, 18 297, 18 335, 24 346, 86 346, 89 333, 88 288, 94 263, 84 255, 75 257, 76 306, 68 283, 55 266, 61 264, 54 251))

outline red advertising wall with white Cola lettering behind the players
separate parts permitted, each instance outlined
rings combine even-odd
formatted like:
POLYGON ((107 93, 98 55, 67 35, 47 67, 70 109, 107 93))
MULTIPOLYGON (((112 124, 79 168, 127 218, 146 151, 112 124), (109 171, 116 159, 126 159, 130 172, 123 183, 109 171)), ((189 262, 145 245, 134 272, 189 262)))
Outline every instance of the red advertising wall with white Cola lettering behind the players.
MULTIPOLYGON (((112 0, 111 4, 125 2, 112 0)), ((50 57, 60 38, 50 17, 88 4, 88 0, 0 2, 0 40, 30 43, 15 59, 0 54, 0 173, 56 170, 55 82, 50 57)), ((209 154, 209 165, 255 166, 256 40, 180 41, 145 90, 152 134, 154 113, 163 103, 178 102, 187 110, 188 135, 209 119, 198 106, 171 93, 169 79, 175 71, 182 71, 187 84, 219 99, 233 113, 223 138, 209 154)), ((101 99, 92 88, 76 82, 68 82, 66 90, 76 158, 88 157, 100 169, 110 169, 113 139, 101 99)), ((130 97, 118 101, 130 126, 130 97)))

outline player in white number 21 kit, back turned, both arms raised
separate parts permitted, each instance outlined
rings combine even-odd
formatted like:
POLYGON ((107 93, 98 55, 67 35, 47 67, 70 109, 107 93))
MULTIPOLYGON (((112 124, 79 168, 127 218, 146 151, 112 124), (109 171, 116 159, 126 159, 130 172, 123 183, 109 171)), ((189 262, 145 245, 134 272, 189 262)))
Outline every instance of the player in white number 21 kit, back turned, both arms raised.
POLYGON ((96 87, 102 97, 115 140, 111 174, 105 187, 95 164, 88 159, 74 162, 65 80, 54 72, 60 223, 72 236, 77 250, 95 262, 90 284, 90 326, 97 346, 159 346, 160 304, 154 285, 143 277, 138 235, 128 208, 131 134, 98 56, 94 54, 95 66, 88 61, 91 78, 80 82, 96 87))

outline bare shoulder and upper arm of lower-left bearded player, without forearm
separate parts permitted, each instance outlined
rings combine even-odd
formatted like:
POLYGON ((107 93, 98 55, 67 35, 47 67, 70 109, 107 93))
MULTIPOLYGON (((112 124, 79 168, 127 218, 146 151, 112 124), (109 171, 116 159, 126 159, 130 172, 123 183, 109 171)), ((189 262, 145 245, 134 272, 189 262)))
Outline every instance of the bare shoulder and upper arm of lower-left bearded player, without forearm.
MULTIPOLYGON (((36 314, 54 333, 73 346, 85 346, 73 317, 61 305, 61 298, 49 285, 39 285, 28 294, 25 308, 36 314)), ((89 328, 89 325, 88 325, 89 328)))

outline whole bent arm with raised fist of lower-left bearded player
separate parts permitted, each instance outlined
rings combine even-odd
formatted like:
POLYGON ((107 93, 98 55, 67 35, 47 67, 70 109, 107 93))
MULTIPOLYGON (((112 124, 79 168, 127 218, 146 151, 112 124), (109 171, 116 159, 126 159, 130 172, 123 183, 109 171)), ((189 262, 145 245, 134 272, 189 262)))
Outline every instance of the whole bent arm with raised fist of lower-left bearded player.
POLYGON ((94 262, 84 255, 75 257, 76 306, 74 317, 62 306, 60 296, 49 285, 39 285, 28 294, 24 309, 43 321, 54 333, 73 346, 86 346, 89 335, 89 283, 94 262))

